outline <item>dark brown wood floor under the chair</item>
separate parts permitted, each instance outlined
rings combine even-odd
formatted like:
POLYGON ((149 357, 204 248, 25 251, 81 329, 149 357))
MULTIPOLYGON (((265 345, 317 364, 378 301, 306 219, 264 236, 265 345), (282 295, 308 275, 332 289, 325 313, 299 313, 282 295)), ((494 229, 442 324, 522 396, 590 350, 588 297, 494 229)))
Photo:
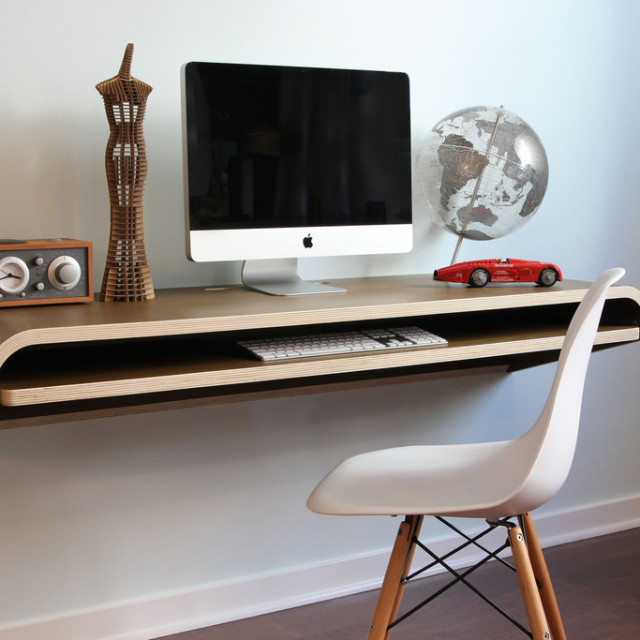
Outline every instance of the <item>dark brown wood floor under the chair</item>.
MULTIPOLYGON (((640 638, 640 528, 545 551, 569 640, 640 638)), ((526 621, 515 576, 491 563, 476 583, 526 621)), ((433 576, 407 589, 437 588, 433 576)), ((365 640, 377 592, 367 592, 265 616, 188 631, 163 640, 365 640)), ((400 624, 392 640, 525 638, 464 586, 456 586, 400 624)))

